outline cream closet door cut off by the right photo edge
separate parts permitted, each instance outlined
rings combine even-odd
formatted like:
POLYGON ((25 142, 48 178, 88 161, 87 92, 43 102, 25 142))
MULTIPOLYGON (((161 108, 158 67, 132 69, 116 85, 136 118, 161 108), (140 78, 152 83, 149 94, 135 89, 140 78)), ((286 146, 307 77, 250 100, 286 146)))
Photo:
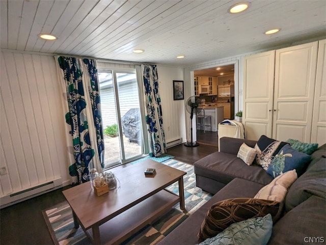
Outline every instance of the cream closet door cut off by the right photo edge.
POLYGON ((326 40, 319 41, 311 143, 326 143, 326 40))

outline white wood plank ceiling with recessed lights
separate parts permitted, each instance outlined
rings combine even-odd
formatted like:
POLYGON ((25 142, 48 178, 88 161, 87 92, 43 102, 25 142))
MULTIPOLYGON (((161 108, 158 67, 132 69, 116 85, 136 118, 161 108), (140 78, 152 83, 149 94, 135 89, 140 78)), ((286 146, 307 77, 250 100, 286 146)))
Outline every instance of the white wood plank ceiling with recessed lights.
POLYGON ((1 0, 1 48, 189 67, 326 36, 324 0, 253 0, 229 14, 237 2, 1 0), (281 31, 264 35, 271 28, 281 31))

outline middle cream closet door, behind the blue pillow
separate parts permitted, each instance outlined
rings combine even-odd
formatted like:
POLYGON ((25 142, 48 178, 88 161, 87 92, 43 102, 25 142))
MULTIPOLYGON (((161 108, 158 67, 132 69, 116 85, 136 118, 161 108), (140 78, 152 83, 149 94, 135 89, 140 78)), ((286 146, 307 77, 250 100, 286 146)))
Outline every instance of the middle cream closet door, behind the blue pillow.
POLYGON ((273 138, 310 142, 318 42, 276 50, 273 138))

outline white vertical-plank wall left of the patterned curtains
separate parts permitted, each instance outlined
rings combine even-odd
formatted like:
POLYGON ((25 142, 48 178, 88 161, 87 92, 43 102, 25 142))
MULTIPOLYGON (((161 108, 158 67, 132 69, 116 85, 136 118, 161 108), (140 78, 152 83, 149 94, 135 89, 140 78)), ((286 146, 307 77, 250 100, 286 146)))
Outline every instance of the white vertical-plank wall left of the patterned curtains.
POLYGON ((59 87, 53 56, 1 52, 1 197, 68 179, 59 87))

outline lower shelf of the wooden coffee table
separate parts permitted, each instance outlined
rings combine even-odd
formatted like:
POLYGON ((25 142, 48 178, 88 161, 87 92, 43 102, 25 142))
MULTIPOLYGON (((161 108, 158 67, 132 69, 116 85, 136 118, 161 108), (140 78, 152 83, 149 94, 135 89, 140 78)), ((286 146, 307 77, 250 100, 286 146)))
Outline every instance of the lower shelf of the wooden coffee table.
MULTIPOLYGON (((174 193, 167 190, 159 191, 102 224, 99 227, 101 244, 121 243, 166 213, 178 202, 180 202, 180 197, 174 193)), ((86 234, 93 240, 92 229, 88 229, 86 234)))

